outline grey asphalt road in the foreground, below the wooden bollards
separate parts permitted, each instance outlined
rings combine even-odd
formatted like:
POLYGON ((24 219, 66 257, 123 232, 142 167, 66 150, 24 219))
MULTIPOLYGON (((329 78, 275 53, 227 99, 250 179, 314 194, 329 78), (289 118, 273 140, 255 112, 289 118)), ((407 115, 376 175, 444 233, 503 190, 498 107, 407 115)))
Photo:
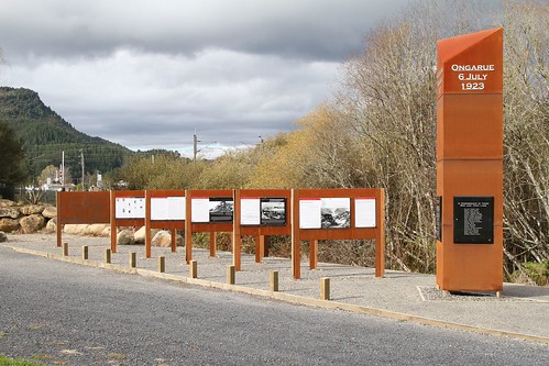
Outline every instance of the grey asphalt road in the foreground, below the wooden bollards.
POLYGON ((0 247, 0 354, 56 365, 549 365, 549 346, 0 247))

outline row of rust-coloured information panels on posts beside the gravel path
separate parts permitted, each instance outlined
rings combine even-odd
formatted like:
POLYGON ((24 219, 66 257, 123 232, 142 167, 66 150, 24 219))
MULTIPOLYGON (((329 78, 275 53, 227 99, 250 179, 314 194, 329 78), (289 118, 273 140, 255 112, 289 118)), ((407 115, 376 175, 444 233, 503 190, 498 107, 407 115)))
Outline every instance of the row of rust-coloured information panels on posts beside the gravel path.
MULTIPOLYGON (((232 232, 233 262, 241 269, 242 235, 292 236, 294 277, 300 277, 300 242, 309 241, 316 267, 319 240, 373 239, 376 276, 383 276, 384 195, 382 189, 238 189, 58 192, 57 245, 64 224, 110 223, 111 251, 118 226, 145 226, 151 257, 151 229, 185 230, 186 260, 193 256, 193 233, 232 232), (190 220, 188 220, 188 218, 190 220)), ((175 251, 175 235, 172 249, 175 251)), ((215 248, 215 241, 210 244, 215 248)), ((256 251, 260 247, 256 245, 256 251)), ((257 258, 257 254, 256 254, 257 258)), ((261 260, 261 257, 260 257, 261 260)))

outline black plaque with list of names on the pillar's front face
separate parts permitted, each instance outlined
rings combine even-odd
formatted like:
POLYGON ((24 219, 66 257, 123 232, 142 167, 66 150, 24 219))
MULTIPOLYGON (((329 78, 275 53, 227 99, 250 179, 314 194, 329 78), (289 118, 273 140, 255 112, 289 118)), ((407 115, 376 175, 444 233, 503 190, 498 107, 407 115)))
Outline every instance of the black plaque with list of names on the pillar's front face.
POLYGON ((494 197, 453 198, 453 242, 494 244, 494 197))

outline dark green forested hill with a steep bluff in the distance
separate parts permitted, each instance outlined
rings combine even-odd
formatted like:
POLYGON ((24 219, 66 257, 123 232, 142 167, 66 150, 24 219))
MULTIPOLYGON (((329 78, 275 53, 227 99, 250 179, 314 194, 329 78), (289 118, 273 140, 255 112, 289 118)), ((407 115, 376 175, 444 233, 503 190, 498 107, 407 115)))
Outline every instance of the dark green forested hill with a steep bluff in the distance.
POLYGON ((85 171, 107 173, 122 166, 129 148, 77 131, 50 107, 37 92, 24 88, 0 87, 0 122, 6 122, 23 141, 31 177, 48 165, 59 166, 65 152, 65 167, 74 177, 81 175, 80 152, 85 171))

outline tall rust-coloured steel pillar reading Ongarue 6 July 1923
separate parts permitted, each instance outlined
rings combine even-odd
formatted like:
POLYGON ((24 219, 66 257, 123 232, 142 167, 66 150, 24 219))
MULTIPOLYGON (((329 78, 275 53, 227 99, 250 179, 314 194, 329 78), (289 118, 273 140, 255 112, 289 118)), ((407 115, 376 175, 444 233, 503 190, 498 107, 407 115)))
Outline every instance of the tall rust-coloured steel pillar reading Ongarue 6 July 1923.
POLYGON ((501 291, 503 29, 437 48, 437 284, 501 291))

